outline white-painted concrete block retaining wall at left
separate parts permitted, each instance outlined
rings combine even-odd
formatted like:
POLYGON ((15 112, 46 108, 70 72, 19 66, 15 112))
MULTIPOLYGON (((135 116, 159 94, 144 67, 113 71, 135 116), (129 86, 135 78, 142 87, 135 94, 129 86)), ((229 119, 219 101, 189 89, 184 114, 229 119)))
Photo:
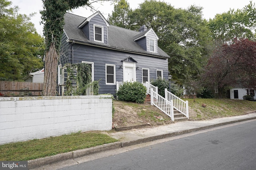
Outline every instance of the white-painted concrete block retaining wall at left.
POLYGON ((110 95, 0 98, 0 144, 111 129, 110 95))

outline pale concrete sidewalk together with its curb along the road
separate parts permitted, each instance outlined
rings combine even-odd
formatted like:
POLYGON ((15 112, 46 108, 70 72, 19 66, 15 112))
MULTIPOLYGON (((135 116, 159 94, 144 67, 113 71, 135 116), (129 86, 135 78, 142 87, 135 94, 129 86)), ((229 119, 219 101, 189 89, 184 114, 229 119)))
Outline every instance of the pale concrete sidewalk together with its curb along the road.
POLYGON ((29 169, 38 168, 40 166, 44 166, 47 164, 53 164, 56 162, 69 160, 69 159, 76 159, 82 156, 103 152, 106 150, 127 147, 130 145, 136 145, 139 143, 173 137, 176 135, 182 135, 185 133, 200 131, 204 129, 210 129, 213 127, 218 127, 222 125, 227 125, 227 124, 251 120, 251 119, 256 119, 256 113, 250 113, 247 115, 241 115, 241 116, 235 116, 235 117, 224 117, 224 118, 218 118, 218 119, 213 119, 208 121, 176 122, 170 125, 164 125, 164 126, 158 126, 158 127, 148 127, 143 129, 131 129, 126 131, 113 132, 113 133, 109 133, 108 135, 110 137, 118 139, 119 142, 105 144, 105 145, 92 147, 88 149, 75 150, 72 152, 49 156, 46 158, 29 160, 28 168, 29 169))

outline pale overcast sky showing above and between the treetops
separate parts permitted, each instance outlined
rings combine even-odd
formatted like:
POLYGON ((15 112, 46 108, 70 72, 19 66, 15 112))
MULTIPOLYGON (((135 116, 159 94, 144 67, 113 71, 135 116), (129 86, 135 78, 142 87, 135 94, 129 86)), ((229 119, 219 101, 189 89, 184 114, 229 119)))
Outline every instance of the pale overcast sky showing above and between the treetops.
MULTIPOLYGON (((9 0, 12 1, 12 6, 18 6, 20 8, 19 14, 32 14, 36 12, 36 15, 31 18, 32 23, 34 23, 37 32, 43 35, 43 25, 40 25, 41 15, 40 10, 43 10, 42 0, 9 0)), ((203 17, 208 20, 214 18, 216 14, 222 14, 230 9, 242 9, 244 6, 248 5, 250 1, 255 3, 256 0, 161 0, 164 1, 174 8, 188 8, 190 5, 196 5, 203 7, 203 17)), ((90 2, 90 0, 89 0, 90 2)), ((139 4, 144 2, 144 0, 127 0, 130 4, 130 8, 133 10, 139 7, 139 4)), ((114 10, 114 4, 112 2, 94 3, 94 8, 100 11, 103 16, 107 19, 108 14, 112 14, 114 10)), ((72 10, 73 14, 83 17, 89 17, 94 12, 90 8, 80 7, 78 9, 72 10)))

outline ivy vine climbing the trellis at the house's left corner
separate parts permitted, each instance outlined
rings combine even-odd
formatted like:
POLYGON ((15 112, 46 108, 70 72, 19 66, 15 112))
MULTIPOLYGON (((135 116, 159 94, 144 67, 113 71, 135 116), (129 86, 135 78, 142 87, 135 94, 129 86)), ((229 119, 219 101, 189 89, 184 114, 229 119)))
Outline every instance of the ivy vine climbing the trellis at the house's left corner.
POLYGON ((90 86, 93 88, 93 95, 99 94, 99 81, 92 82, 91 66, 86 63, 66 64, 67 80, 65 95, 86 95, 90 86))

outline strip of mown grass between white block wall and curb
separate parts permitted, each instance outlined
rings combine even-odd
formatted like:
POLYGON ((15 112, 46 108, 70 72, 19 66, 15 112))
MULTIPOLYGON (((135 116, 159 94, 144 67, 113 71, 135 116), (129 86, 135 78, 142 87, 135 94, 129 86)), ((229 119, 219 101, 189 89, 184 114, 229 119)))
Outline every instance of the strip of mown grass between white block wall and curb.
POLYGON ((93 132, 9 143, 0 145, 0 160, 31 160, 116 141, 106 134, 93 132))

